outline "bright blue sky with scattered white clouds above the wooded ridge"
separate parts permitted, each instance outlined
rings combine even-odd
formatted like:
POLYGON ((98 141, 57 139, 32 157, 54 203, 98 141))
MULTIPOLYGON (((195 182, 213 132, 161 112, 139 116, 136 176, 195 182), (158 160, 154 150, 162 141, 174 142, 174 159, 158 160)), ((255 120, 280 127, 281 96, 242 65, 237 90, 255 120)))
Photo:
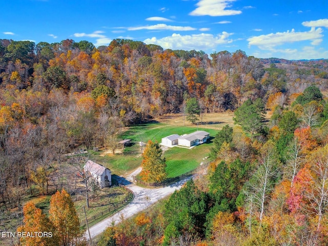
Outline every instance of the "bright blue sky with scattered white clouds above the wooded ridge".
POLYGON ((60 42, 115 38, 210 54, 328 58, 327 0, 1 1, 0 38, 60 42))

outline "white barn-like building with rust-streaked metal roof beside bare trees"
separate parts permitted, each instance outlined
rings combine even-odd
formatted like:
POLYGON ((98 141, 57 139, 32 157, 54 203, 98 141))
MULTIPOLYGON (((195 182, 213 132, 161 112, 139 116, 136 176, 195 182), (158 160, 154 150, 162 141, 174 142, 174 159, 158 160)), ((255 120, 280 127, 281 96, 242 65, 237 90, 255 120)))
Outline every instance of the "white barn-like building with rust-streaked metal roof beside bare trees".
POLYGON ((110 187, 112 185, 112 172, 108 168, 88 160, 84 165, 84 171, 89 172, 92 175, 100 186, 100 189, 110 187))

